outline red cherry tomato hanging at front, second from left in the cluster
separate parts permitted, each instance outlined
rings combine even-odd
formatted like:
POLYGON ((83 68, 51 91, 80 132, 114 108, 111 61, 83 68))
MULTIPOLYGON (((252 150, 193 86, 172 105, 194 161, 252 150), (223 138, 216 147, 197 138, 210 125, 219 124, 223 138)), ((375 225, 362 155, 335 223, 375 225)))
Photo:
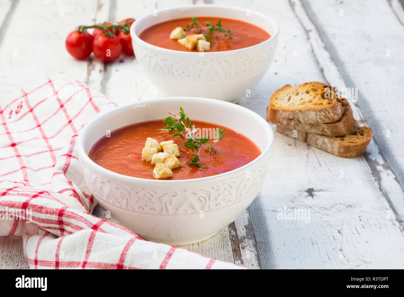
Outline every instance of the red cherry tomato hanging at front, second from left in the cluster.
POLYGON ((122 44, 116 36, 109 38, 104 34, 98 34, 93 41, 93 53, 101 61, 112 62, 122 53, 122 44))

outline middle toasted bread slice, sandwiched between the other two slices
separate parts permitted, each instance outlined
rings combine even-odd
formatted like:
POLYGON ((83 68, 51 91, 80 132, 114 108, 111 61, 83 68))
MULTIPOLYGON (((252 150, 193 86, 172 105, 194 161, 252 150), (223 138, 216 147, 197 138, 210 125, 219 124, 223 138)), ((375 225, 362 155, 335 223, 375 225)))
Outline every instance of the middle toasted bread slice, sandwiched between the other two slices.
MULTIPOLYGON (((345 108, 344 114, 342 117, 336 122, 332 123, 315 123, 315 124, 300 124, 300 125, 287 125, 287 124, 279 124, 284 128, 288 128, 291 130, 316 133, 326 136, 342 136, 347 134, 352 130, 355 119, 353 118, 353 112, 349 102, 345 98, 337 99, 341 102, 342 106, 345 108)), ((267 107, 267 120, 268 120, 268 111, 269 107, 267 107)), ((268 120, 271 124, 276 124, 268 120)))

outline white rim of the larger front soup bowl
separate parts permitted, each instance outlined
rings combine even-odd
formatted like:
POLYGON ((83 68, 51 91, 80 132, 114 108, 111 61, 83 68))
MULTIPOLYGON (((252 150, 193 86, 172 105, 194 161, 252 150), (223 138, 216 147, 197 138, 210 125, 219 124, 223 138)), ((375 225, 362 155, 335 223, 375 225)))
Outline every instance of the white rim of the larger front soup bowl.
MULTIPOLYGON (((135 122, 133 124, 135 124, 135 122)), ((229 128, 231 128, 231 127, 229 127, 229 128)), ((248 138, 247 135, 244 135, 244 136, 248 138)), ((252 140, 250 139, 250 141, 252 141, 252 140)), ((134 103, 129 103, 129 104, 126 104, 126 105, 115 107, 112 110, 108 110, 107 112, 101 112, 101 114, 97 115, 95 118, 93 118, 93 120, 90 120, 90 122, 88 122, 83 127, 83 129, 79 132, 78 139, 77 139, 77 147, 78 147, 79 158, 80 159, 84 158, 84 160, 85 160, 85 161, 81 160, 82 162, 90 162, 90 164, 95 166, 97 169, 99 169, 105 175, 112 175, 112 177, 117 178, 117 179, 121 179, 121 180, 124 179, 124 181, 128 181, 128 182, 131 182, 131 181, 136 182, 137 181, 137 182, 150 183, 150 184, 192 183, 192 182, 196 182, 196 181, 198 181, 198 182, 201 181, 202 182, 202 181, 208 181, 208 180, 213 180, 213 179, 221 179, 221 178, 226 177, 227 175, 231 175, 231 174, 236 173, 238 171, 244 170, 246 167, 252 166, 253 164, 259 162, 265 155, 267 155, 269 153, 269 151, 271 150, 273 145, 274 145, 274 132, 270 128, 267 121, 264 120, 257 113, 253 112, 252 110, 249 110, 246 107, 243 107, 243 106, 240 106, 240 105, 237 105, 237 104, 234 104, 234 103, 221 101, 221 100, 217 100, 217 99, 202 98, 202 97, 162 97, 162 98, 141 100, 141 101, 137 101, 137 102, 134 102, 134 103), (265 149, 263 150, 263 152, 261 152, 261 154, 257 158, 252 160, 251 162, 249 162, 249 163, 247 163, 247 164, 245 164, 245 165, 243 165, 241 167, 238 167, 236 169, 233 169, 231 171, 227 171, 227 172, 220 173, 220 174, 217 174, 217 175, 211 175, 211 176, 208 176, 208 177, 199 177, 199 178, 196 178, 196 179, 175 179, 175 180, 172 180, 172 179, 170 179, 170 180, 143 179, 143 178, 140 178, 140 177, 133 177, 133 176, 128 176, 128 175, 123 175, 123 174, 116 173, 114 171, 110 171, 108 169, 105 169, 104 167, 100 166, 99 164, 97 164, 93 160, 91 160, 90 157, 88 156, 88 154, 86 154, 86 152, 84 150, 84 135, 88 133, 88 130, 94 124, 97 124, 98 122, 101 122, 102 120, 105 120, 105 118, 108 118, 108 116, 110 116, 111 114, 114 114, 114 113, 119 112, 121 110, 125 110, 127 108, 133 108, 135 105, 144 105, 144 104, 147 104, 147 103, 166 101, 166 100, 170 100, 170 99, 199 100, 199 101, 203 101, 204 103, 207 102, 207 103, 215 103, 215 104, 222 105, 222 106, 231 106, 231 107, 235 107, 236 109, 242 110, 244 112, 248 112, 248 113, 254 115, 255 117, 257 117, 257 121, 261 122, 261 124, 264 127, 264 130, 266 130, 265 132, 269 134, 269 141, 268 141, 267 145, 265 146, 265 149)))

